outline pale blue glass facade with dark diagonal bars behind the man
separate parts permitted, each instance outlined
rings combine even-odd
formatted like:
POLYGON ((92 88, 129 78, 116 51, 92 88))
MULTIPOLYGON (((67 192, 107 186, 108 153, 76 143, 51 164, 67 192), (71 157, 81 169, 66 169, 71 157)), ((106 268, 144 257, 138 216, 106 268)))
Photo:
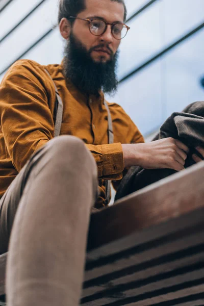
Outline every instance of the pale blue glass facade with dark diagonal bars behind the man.
MULTIPOLYGON (((63 39, 53 30, 57 2, 13 0, 0 7, 0 82, 18 58, 62 61, 63 39)), ((131 30, 121 42, 118 66, 118 78, 125 80, 108 100, 119 103, 148 136, 172 112, 204 100, 204 1, 126 0, 126 6, 131 30)))

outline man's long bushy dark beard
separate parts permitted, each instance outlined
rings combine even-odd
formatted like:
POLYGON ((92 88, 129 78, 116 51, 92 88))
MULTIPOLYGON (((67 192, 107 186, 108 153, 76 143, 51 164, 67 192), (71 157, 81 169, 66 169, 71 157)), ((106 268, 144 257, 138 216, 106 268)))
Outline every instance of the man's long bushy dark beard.
POLYGON ((72 33, 65 47, 63 62, 65 77, 87 95, 98 95, 100 90, 103 90, 104 93, 114 94, 118 87, 115 72, 118 52, 113 55, 106 44, 96 46, 96 48, 99 47, 106 47, 111 53, 111 59, 106 63, 95 62, 91 58, 92 49, 87 51, 85 46, 72 33))

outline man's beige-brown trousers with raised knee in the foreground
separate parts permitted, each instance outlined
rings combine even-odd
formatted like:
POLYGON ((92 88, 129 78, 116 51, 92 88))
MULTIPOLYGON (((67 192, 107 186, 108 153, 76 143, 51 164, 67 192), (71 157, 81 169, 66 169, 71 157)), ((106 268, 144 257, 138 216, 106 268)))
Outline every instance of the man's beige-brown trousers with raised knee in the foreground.
POLYGON ((50 140, 16 176, 0 201, 8 306, 79 305, 97 183, 91 153, 72 136, 50 140))

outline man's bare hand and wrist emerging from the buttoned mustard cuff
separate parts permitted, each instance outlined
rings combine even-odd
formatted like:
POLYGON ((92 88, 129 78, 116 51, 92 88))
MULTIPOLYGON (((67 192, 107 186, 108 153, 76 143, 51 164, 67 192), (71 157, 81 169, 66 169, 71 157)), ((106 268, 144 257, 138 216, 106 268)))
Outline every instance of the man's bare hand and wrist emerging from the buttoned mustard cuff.
POLYGON ((189 148, 179 140, 164 138, 149 143, 123 144, 125 167, 184 169, 189 148))

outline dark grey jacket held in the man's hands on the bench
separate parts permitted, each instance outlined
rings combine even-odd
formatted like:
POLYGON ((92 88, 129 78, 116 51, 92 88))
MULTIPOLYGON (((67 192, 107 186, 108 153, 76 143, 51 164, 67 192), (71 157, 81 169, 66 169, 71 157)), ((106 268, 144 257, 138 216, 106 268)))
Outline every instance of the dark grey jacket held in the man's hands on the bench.
MULTIPOLYGON (((204 147, 204 101, 190 104, 182 113, 173 113, 164 122, 159 134, 152 141, 168 137, 179 139, 190 148, 185 168, 195 163, 192 159, 194 152, 202 158, 195 147, 204 147)), ((164 177, 175 172, 171 169, 148 170, 141 167, 131 167, 118 187, 115 200, 164 179, 164 177)))

